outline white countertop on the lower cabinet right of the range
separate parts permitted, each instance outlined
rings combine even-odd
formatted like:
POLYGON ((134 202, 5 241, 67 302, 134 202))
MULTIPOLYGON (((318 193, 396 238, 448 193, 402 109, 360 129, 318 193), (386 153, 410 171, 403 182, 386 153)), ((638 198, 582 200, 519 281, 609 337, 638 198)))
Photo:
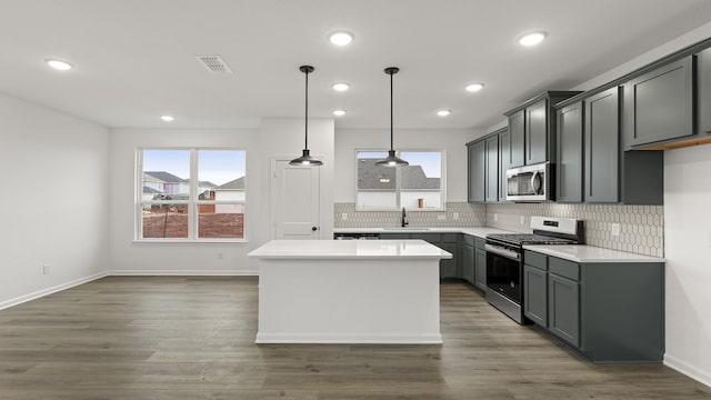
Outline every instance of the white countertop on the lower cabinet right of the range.
POLYGON ((663 258, 585 244, 523 246, 523 249, 574 262, 664 262, 663 258))

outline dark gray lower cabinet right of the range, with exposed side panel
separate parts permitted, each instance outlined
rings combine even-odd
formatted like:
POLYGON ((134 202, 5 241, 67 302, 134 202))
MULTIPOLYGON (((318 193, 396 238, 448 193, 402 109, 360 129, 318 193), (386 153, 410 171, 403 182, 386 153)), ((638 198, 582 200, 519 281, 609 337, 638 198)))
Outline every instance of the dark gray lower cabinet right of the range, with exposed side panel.
POLYGON ((663 262, 523 259, 528 319, 593 362, 663 359, 663 262))

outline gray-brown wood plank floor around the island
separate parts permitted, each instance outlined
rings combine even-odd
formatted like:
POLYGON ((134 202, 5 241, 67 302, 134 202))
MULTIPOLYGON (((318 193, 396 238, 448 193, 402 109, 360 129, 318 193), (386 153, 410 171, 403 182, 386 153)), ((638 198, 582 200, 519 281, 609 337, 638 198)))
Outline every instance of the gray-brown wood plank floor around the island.
POLYGON ((256 278, 104 278, 0 311, 0 399, 711 399, 441 293, 443 346, 257 346, 256 278))

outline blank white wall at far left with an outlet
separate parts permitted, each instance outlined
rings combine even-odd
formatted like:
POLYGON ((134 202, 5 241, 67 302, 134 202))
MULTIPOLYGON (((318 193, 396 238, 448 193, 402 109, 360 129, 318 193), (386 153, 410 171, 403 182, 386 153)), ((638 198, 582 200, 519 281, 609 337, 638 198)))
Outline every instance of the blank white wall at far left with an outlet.
POLYGON ((108 142, 104 128, 0 94, 0 309, 107 269, 108 142))

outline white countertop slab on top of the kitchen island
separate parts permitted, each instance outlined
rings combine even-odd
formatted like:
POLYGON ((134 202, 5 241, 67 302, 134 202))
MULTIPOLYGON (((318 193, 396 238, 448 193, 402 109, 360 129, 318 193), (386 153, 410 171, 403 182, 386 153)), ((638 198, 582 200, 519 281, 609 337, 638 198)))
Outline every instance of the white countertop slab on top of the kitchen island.
POLYGON ((424 240, 272 240, 247 256, 258 259, 451 259, 424 240))

